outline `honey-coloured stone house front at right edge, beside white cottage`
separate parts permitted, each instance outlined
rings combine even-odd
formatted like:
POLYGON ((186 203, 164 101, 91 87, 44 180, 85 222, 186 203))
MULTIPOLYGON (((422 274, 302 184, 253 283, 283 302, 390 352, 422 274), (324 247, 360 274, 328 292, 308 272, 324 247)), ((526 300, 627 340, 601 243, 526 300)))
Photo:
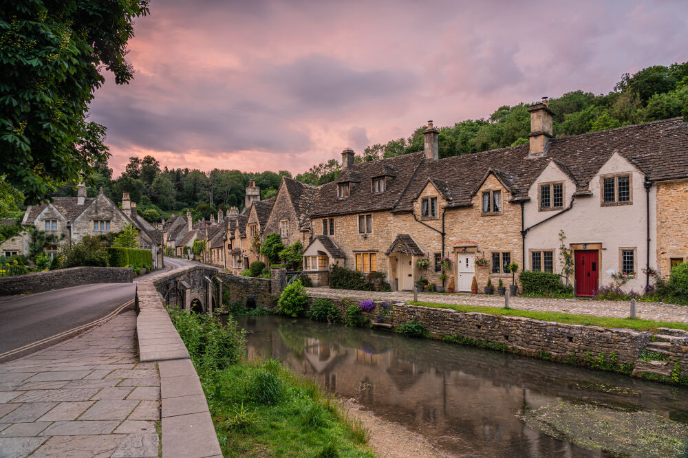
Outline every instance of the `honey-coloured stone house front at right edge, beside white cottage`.
POLYGON ((688 262, 688 180, 657 184, 657 265, 671 273, 671 259, 688 262))

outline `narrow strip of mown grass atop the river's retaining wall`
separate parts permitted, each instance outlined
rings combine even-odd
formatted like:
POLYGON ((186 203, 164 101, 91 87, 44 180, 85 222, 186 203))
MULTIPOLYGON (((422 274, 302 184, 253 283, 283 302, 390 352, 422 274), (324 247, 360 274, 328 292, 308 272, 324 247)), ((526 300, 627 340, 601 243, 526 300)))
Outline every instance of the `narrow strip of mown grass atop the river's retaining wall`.
POLYGON ((606 328, 627 328, 637 331, 650 331, 658 327, 683 329, 688 331, 688 323, 674 323, 673 321, 642 320, 640 318, 608 318, 605 316, 563 314, 559 312, 536 312, 534 310, 505 309, 503 307, 480 307, 477 305, 436 304, 427 302, 411 302, 411 305, 434 307, 438 309, 453 309, 458 312, 480 312, 488 315, 524 316, 534 320, 555 321, 567 325, 601 326, 606 328))

